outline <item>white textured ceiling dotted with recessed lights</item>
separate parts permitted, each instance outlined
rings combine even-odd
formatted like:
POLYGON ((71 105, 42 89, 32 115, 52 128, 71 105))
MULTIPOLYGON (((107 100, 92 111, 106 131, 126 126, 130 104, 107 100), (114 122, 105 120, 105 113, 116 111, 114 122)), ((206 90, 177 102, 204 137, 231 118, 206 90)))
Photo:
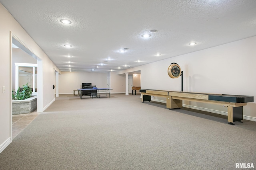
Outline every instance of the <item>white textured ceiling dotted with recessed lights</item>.
POLYGON ((256 0, 0 2, 61 71, 68 61, 72 71, 127 69, 256 35, 256 0), (158 31, 141 36, 152 29, 158 31))

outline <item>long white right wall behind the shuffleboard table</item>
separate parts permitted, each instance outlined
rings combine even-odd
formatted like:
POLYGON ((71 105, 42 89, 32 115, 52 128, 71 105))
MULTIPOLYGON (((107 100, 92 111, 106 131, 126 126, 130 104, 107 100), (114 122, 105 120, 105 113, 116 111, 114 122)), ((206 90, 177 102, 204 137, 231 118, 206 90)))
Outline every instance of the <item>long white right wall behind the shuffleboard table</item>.
MULTIPOLYGON (((181 91, 181 78, 172 79, 167 74, 170 63, 178 63, 184 73, 184 92, 248 95, 254 96, 256 101, 255 45, 256 36, 121 70, 117 74, 141 70, 142 89, 181 91)), ((227 111, 217 105, 196 102, 184 104, 216 112, 227 111)), ((244 116, 256 120, 256 102, 244 106, 244 116)))

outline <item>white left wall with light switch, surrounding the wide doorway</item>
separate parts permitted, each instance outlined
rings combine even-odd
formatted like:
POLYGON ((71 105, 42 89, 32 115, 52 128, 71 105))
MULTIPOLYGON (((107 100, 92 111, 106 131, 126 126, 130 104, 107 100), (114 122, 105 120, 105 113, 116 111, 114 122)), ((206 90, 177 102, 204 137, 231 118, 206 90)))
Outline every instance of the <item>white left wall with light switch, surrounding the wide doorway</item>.
POLYGON ((43 84, 40 89, 42 101, 39 100, 39 102, 42 102, 41 105, 44 109, 54 101, 53 70, 55 68, 58 72, 60 71, 2 4, 0 4, 0 20, 0 152, 2 152, 12 141, 12 34, 42 60, 43 84), (2 93, 3 86, 6 90, 5 93, 2 93))

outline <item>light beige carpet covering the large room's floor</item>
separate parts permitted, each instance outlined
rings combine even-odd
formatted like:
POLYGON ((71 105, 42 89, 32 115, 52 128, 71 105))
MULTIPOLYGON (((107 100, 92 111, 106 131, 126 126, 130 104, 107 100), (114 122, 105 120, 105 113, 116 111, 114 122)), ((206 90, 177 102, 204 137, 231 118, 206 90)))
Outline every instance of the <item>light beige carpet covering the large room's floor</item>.
POLYGON ((60 95, 0 153, 0 169, 232 170, 256 166, 256 122, 111 98, 60 95))

